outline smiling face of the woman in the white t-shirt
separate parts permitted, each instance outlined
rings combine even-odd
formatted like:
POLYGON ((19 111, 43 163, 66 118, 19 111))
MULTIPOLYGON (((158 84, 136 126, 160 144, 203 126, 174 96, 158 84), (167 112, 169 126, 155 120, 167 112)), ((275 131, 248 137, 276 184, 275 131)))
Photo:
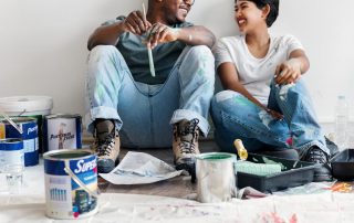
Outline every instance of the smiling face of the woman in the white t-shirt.
POLYGON ((248 33, 264 24, 266 19, 263 11, 258 9, 252 1, 236 0, 235 1, 235 21, 241 33, 248 33))

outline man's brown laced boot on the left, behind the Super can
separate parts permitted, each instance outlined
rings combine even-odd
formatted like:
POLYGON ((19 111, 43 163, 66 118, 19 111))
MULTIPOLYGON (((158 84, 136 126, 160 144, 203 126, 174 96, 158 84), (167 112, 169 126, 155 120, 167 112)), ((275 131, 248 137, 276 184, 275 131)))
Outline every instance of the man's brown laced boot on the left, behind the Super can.
POLYGON ((118 162, 121 140, 111 120, 98 120, 95 126, 94 150, 97 153, 98 173, 111 172, 118 162))

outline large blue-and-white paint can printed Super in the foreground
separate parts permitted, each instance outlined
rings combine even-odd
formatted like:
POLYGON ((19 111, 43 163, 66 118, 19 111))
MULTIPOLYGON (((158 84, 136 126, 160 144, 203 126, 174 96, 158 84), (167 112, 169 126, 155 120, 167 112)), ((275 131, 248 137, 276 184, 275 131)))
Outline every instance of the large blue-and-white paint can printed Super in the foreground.
POLYGON ((45 213, 52 219, 83 219, 97 208, 96 155, 90 149, 48 151, 44 159, 45 213))

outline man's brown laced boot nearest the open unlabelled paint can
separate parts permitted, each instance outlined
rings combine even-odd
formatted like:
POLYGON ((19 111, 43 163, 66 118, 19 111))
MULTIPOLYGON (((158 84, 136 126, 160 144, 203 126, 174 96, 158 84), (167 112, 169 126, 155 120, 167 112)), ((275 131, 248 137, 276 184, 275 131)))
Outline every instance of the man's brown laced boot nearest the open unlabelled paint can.
POLYGON ((196 155, 199 155, 198 138, 199 127, 198 119, 181 120, 174 125, 174 160, 177 170, 187 170, 195 177, 196 155))

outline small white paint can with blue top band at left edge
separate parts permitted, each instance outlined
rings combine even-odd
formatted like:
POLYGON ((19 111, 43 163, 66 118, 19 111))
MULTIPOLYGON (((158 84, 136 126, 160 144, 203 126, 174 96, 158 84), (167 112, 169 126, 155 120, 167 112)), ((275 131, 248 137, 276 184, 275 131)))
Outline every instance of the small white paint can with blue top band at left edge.
POLYGON ((22 139, 0 139, 0 167, 24 166, 22 139))

